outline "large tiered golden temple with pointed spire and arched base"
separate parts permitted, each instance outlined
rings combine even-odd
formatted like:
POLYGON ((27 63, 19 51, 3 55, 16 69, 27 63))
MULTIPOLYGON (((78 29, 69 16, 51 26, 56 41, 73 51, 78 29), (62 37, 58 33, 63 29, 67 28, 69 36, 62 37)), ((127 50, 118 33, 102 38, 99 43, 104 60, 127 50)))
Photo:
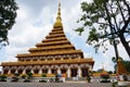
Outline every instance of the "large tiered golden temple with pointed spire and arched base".
POLYGON ((76 50, 66 38, 61 18, 61 2, 58 2, 57 16, 52 32, 28 51, 29 53, 17 54, 16 62, 2 62, 2 73, 9 76, 14 73, 31 72, 34 76, 57 73, 66 74, 66 78, 86 77, 94 64, 92 58, 84 58, 83 52, 76 50))

